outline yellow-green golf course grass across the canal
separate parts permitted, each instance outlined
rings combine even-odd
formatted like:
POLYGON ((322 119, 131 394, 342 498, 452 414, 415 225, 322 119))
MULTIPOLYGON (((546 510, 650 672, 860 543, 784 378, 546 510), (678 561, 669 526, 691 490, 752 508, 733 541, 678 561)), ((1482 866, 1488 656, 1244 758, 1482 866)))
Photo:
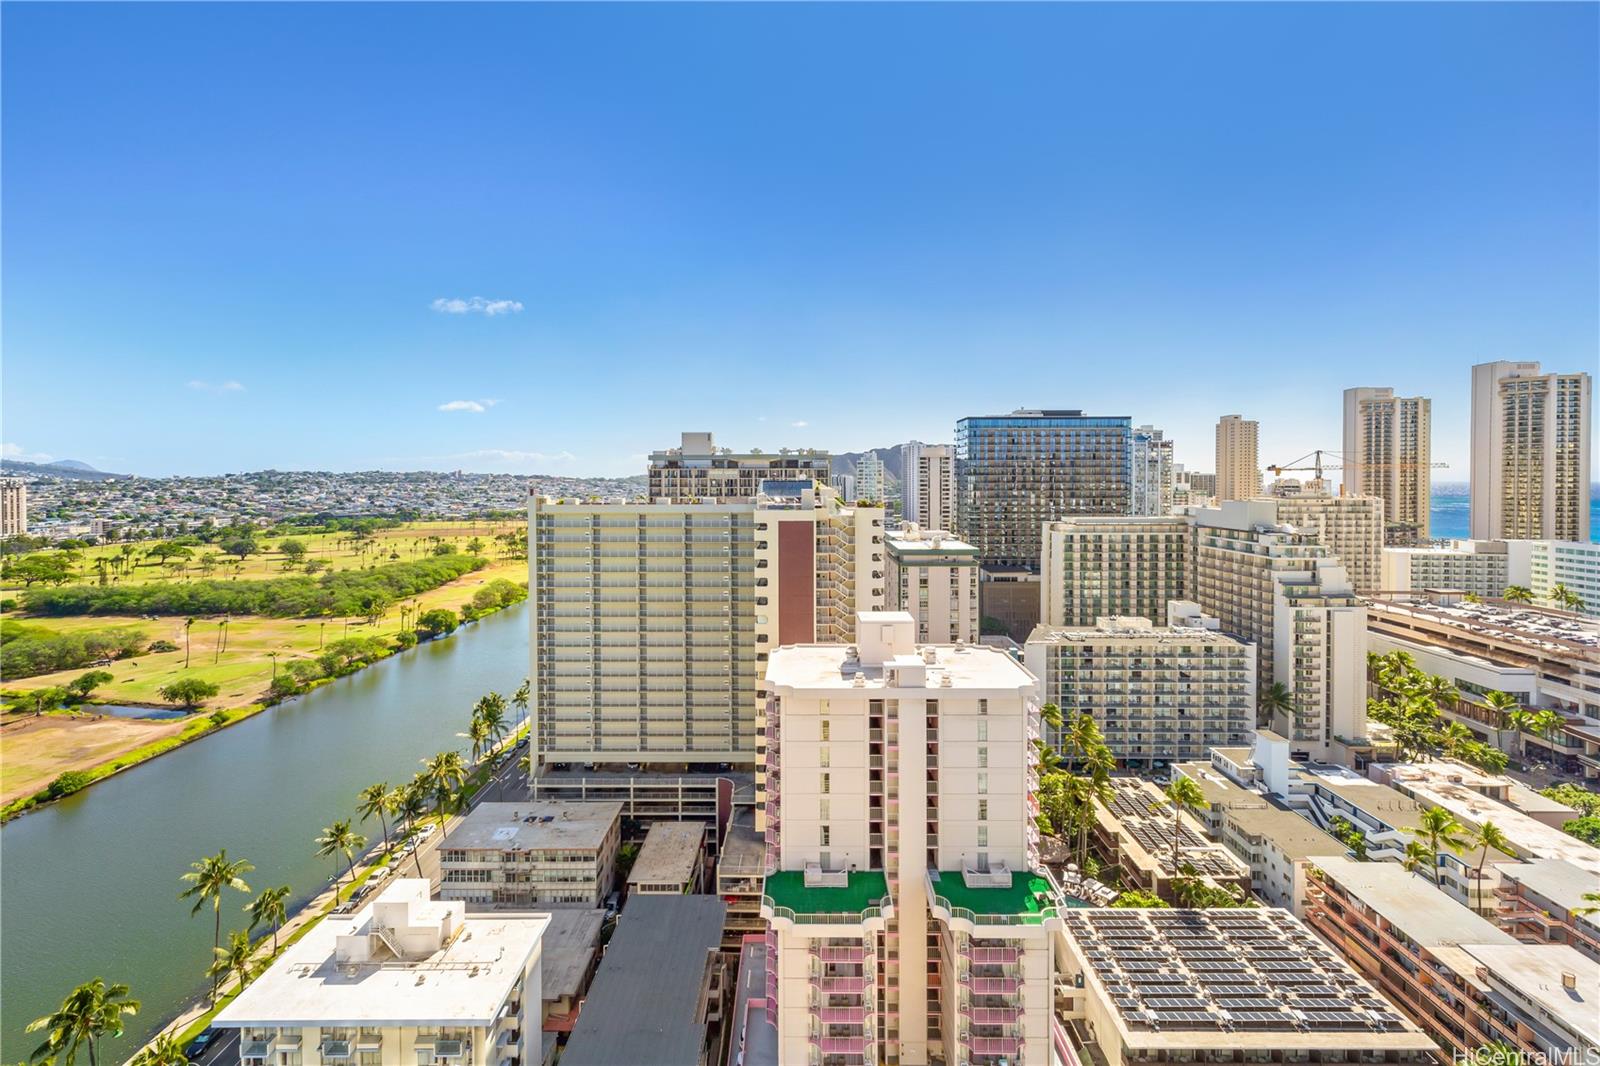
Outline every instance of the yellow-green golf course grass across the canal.
MULTIPOLYGON (((485 543, 483 554, 490 565, 475 573, 469 573, 450 584, 406 600, 406 605, 418 605, 419 610, 445 607, 459 610, 472 599, 474 591, 488 581, 506 578, 526 583, 528 563, 523 559, 509 559, 493 539, 494 533, 510 531, 520 523, 413 523, 397 530, 379 531, 362 546, 350 543, 344 535, 298 536, 312 554, 307 557, 325 559, 330 568, 344 570, 362 565, 394 562, 390 552, 400 554, 402 560, 416 559, 432 551, 435 541, 466 547, 474 536, 485 543)), ((277 538, 267 538, 269 544, 277 538)), ((99 554, 117 552, 115 546, 104 549, 91 547, 85 552, 86 565, 93 576, 93 559, 99 554)), ((283 575, 282 557, 267 554, 250 557, 243 563, 240 579, 267 578, 283 575)), ((184 581, 198 578, 198 570, 190 570, 186 578, 166 576, 158 567, 134 567, 122 581, 184 581)), ((232 568, 213 575, 214 578, 232 576, 232 568)), ((226 647, 224 626, 221 618, 202 618, 184 632, 182 618, 130 618, 115 615, 74 616, 74 618, 27 618, 29 624, 46 627, 56 632, 72 632, 85 629, 106 629, 114 626, 136 626, 144 631, 147 640, 170 640, 178 645, 176 651, 144 653, 131 659, 120 659, 106 669, 112 682, 94 691, 96 703, 110 704, 158 704, 160 688, 179 677, 198 677, 218 685, 219 693, 206 701, 206 711, 216 707, 243 707, 254 704, 267 693, 274 669, 283 669, 294 659, 314 659, 325 643, 331 643, 344 635, 370 635, 392 639, 400 632, 398 607, 373 624, 360 618, 259 618, 234 616, 227 619, 226 647), (186 650, 187 648, 187 650, 186 650), (184 661, 187 658, 187 667, 184 661)), ((6 679, 8 693, 27 693, 35 688, 64 685, 90 667, 40 674, 37 677, 6 679)), ((205 717, 205 715, 200 715, 205 717)), ((189 719, 194 722, 194 717, 189 719)), ((6 714, 0 719, 0 804, 18 795, 27 795, 50 784, 66 770, 90 770, 104 767, 118 757, 125 757, 152 741, 174 738, 184 731, 182 720, 147 722, 128 719, 90 719, 45 715, 32 719, 24 714, 6 714), (26 720, 24 720, 26 719, 26 720)))

